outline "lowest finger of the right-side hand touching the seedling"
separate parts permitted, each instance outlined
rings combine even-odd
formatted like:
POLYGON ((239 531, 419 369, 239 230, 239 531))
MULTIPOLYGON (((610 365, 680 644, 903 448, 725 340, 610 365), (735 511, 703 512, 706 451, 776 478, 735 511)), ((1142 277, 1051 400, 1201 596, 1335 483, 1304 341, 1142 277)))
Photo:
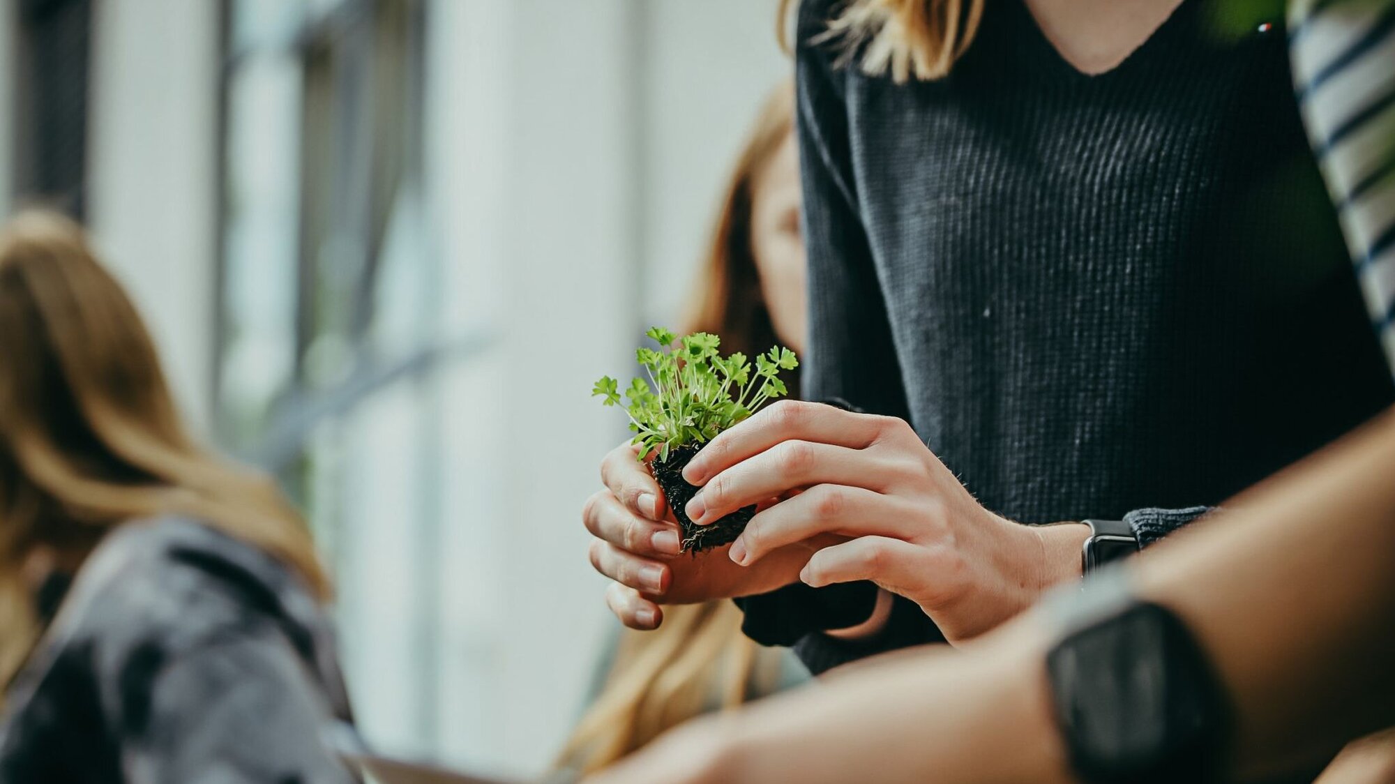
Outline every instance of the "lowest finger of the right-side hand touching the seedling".
POLYGON ((950 559, 943 548, 921 547, 884 536, 864 536, 813 554, 799 580, 813 587, 872 580, 886 590, 921 603, 936 604, 946 585, 950 559))

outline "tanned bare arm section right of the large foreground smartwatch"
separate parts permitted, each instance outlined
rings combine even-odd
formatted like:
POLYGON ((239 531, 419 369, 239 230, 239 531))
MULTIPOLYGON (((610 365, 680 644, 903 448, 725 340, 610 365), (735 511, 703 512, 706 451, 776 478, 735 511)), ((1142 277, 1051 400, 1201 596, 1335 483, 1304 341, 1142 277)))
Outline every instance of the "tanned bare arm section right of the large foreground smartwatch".
POLYGON ((1138 559, 1221 672, 1244 776, 1395 724, 1395 417, 1138 559), (1237 557, 1243 555, 1243 557, 1237 557))

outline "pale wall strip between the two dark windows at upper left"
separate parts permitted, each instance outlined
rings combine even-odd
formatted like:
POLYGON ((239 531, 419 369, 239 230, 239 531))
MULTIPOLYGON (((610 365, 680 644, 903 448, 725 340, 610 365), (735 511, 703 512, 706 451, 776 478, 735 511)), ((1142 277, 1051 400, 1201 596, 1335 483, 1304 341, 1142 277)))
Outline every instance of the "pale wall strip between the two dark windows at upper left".
POLYGON ((219 31, 212 0, 92 4, 89 225, 206 432, 219 31))

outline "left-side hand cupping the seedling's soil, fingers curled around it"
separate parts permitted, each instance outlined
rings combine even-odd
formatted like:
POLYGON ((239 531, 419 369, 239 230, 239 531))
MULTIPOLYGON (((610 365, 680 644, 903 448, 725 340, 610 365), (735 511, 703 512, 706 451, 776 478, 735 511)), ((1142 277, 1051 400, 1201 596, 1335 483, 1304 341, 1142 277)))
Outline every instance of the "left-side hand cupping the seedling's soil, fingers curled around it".
POLYGON ((664 604, 692 604, 766 593, 799 579, 799 571, 820 547, 841 541, 823 537, 783 547, 751 566, 731 561, 727 547, 679 555, 678 522, 639 448, 622 444, 601 462, 603 490, 582 509, 586 530, 596 537, 590 559, 615 580, 605 593, 611 611, 633 629, 663 622, 664 604))

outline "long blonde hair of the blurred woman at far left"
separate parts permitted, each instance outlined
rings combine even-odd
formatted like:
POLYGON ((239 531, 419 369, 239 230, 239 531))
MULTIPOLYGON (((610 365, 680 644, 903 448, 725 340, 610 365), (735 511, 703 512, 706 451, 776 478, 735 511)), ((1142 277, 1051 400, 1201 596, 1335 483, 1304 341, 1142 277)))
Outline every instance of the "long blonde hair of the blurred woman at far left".
POLYGON ((38 636, 32 555, 81 562, 106 532, 174 513, 329 580, 265 477, 190 438, 135 307, 81 227, 31 211, 0 232, 0 679, 38 636))

